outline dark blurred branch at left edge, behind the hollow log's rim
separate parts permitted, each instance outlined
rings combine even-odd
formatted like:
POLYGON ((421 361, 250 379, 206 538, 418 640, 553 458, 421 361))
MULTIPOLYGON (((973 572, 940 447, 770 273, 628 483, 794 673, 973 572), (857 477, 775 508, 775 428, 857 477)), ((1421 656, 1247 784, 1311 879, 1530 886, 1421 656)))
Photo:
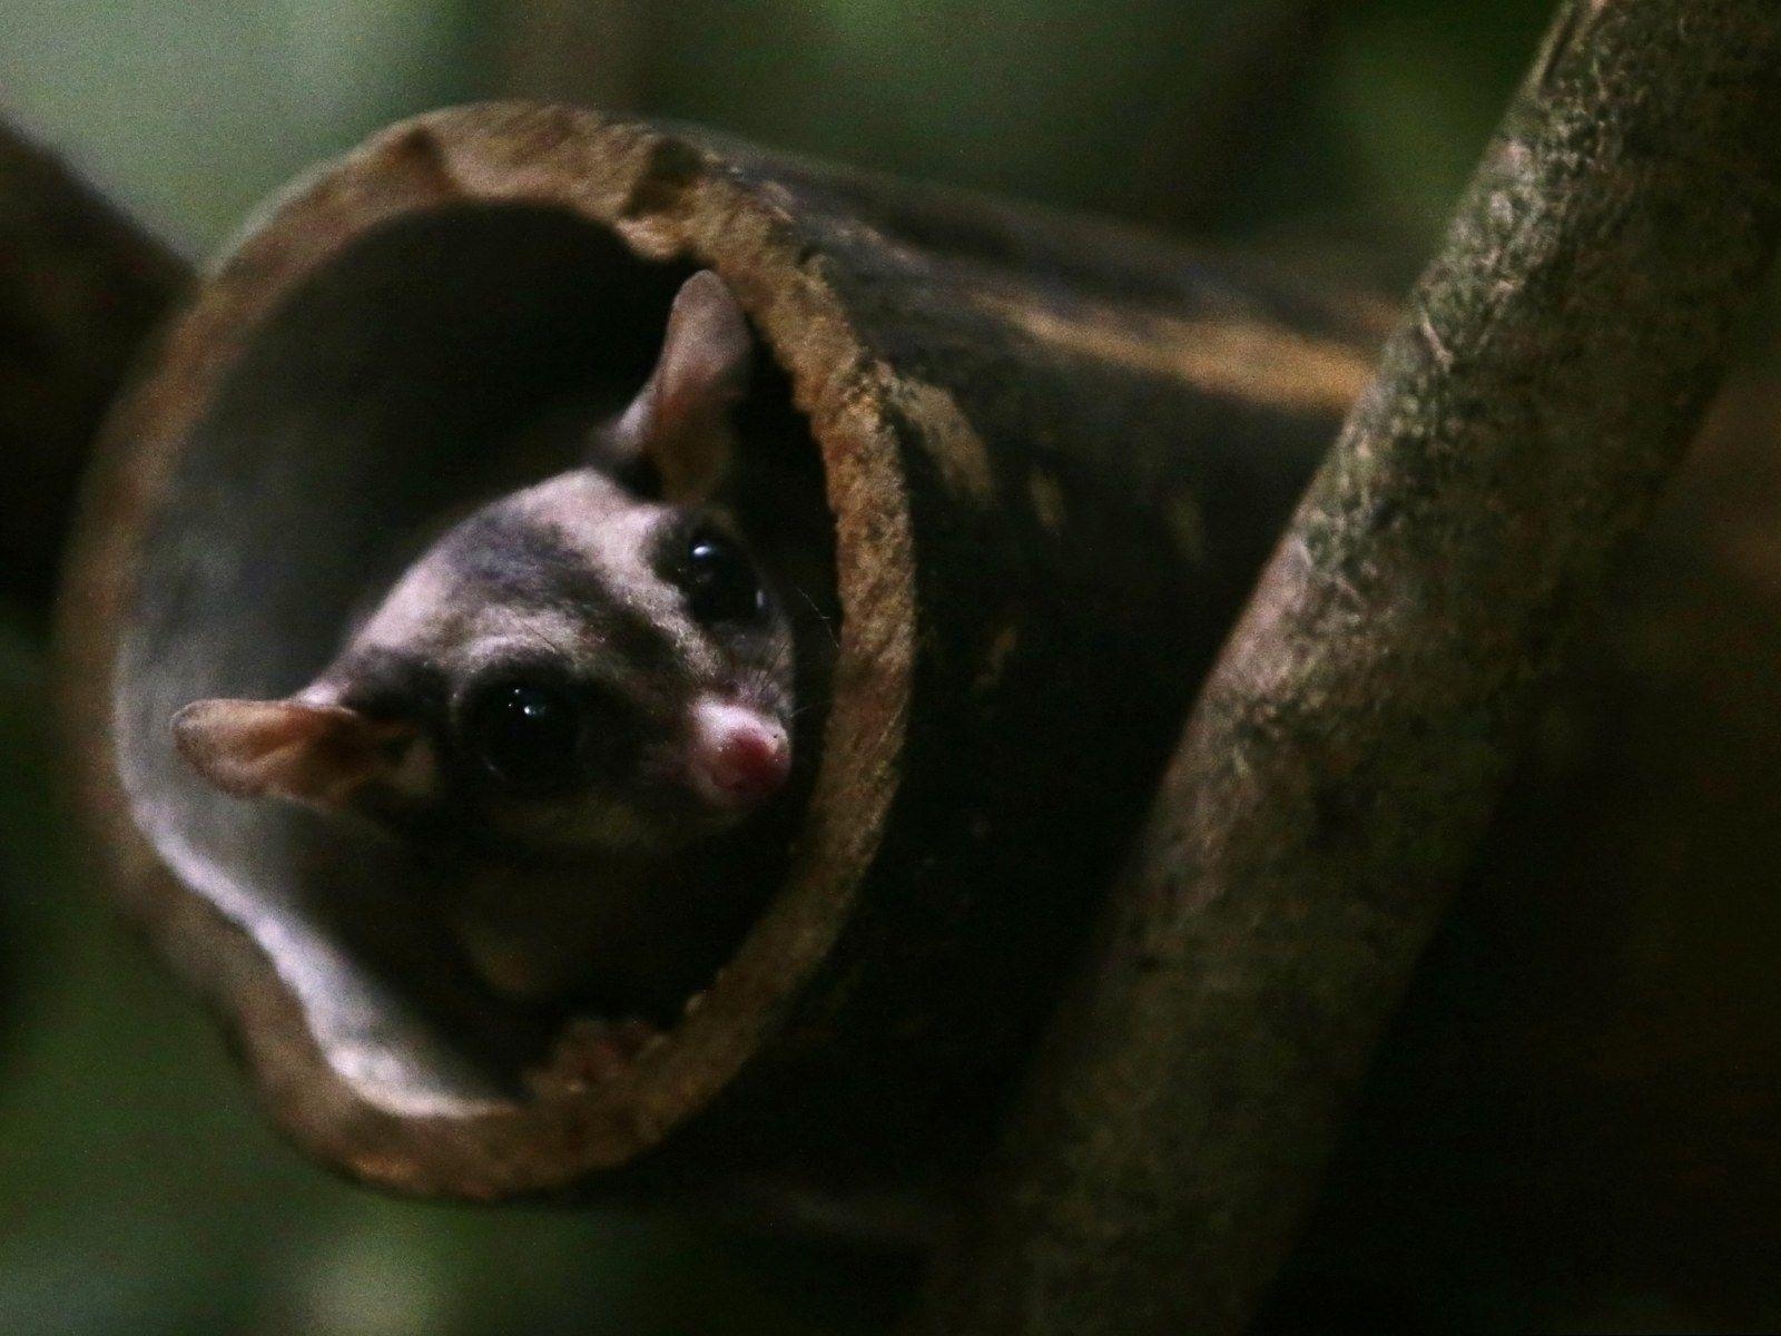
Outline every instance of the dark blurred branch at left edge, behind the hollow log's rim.
POLYGON ((105 408, 191 271, 0 123, 0 593, 45 611, 105 408))

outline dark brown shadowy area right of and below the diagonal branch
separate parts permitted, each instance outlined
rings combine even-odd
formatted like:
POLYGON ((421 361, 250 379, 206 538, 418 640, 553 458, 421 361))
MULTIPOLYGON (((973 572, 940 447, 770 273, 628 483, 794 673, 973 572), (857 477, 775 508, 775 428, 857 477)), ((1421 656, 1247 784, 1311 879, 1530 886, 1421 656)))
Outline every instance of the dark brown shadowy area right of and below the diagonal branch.
POLYGON ((1257 1331, 1781 1331, 1777 445, 1612 563, 1257 1331))

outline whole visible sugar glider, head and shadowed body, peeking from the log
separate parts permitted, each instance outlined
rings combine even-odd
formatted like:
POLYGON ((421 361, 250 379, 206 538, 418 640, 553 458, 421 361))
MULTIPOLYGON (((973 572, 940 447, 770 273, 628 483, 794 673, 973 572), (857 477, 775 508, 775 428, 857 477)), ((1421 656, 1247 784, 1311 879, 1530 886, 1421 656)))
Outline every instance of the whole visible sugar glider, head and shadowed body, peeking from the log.
POLYGON ((752 362, 728 287, 693 274, 582 467, 447 529, 294 695, 182 709, 180 754, 411 841, 502 996, 684 998, 759 908, 832 641, 826 563, 728 504, 752 362))

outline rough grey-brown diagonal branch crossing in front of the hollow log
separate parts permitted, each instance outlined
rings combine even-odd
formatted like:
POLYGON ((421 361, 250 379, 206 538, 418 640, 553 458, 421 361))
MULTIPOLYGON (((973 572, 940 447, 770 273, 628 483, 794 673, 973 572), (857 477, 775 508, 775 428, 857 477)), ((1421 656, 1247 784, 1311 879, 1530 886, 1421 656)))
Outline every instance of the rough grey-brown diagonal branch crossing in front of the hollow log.
POLYGON ((1165 778, 926 1329, 1243 1325, 1781 198, 1781 20, 1567 4, 1165 778))

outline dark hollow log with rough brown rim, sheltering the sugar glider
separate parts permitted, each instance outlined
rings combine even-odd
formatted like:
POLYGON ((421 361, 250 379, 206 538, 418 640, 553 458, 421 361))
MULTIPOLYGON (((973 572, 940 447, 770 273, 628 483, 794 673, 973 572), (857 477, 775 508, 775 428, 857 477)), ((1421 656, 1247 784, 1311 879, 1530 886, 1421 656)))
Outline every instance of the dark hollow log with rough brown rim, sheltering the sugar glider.
POLYGON ((264 216, 109 424, 61 622, 82 811, 278 1124, 360 1179, 857 1215, 958 1181, 1378 330, 1232 257, 691 130, 420 118, 264 216), (522 468, 516 428, 636 383, 695 265, 821 456, 834 704, 728 965, 557 1081, 573 1026, 454 985, 388 850, 221 798, 167 721, 303 682, 403 534, 522 468))

